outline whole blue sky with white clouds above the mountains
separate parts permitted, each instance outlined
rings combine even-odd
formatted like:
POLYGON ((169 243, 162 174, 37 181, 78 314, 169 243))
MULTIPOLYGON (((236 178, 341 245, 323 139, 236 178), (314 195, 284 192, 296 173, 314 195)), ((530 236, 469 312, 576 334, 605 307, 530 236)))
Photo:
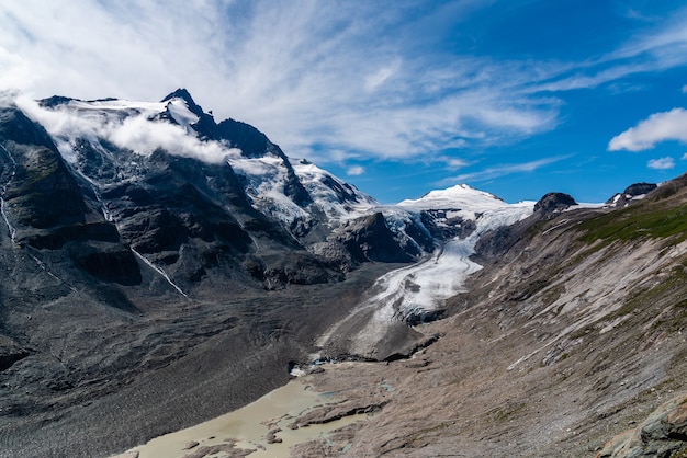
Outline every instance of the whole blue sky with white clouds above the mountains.
POLYGON ((0 91, 187 88, 382 203, 687 171, 684 0, 3 0, 0 91))

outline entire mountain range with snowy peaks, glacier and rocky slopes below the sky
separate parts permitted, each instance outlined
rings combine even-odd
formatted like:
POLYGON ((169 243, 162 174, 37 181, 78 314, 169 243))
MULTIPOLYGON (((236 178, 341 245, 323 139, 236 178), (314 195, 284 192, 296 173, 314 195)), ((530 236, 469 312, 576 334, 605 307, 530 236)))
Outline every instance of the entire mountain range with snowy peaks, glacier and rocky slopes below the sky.
POLYGON ((4 102, 0 150, 0 456, 108 456, 314 355, 398 389, 296 456, 687 449, 679 422, 604 445, 685 389, 684 176, 381 205, 183 89, 4 102))

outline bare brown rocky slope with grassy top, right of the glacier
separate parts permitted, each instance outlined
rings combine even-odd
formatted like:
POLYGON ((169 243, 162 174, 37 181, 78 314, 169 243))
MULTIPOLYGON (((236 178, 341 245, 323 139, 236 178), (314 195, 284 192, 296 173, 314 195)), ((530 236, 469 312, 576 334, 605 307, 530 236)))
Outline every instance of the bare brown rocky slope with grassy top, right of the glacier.
POLYGON ((312 376, 381 413, 296 456, 683 456, 686 184, 621 209, 538 205, 483 237, 450 318, 416 328, 436 343, 312 376))

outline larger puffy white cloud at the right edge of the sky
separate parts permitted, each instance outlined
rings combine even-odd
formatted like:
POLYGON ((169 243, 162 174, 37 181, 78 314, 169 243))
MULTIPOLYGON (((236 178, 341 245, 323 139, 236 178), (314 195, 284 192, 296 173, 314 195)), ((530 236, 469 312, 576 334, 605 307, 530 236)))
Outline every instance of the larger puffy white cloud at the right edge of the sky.
POLYGON ((637 126, 613 137, 608 144, 608 150, 643 151, 665 140, 687 142, 686 110, 673 108, 652 114, 637 126))

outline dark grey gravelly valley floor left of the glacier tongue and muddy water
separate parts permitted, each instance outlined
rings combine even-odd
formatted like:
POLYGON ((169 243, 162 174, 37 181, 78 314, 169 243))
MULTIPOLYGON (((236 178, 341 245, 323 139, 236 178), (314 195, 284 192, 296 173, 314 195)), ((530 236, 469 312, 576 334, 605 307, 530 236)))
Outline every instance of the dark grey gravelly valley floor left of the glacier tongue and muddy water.
MULTIPOLYGON (((226 301, 169 301, 142 310, 126 328, 102 320, 90 330, 61 320, 72 328, 56 342, 68 345, 72 360, 92 357, 98 344, 104 356, 89 360, 93 367, 106 374, 124 357, 133 358, 131 367, 59 391, 44 387, 55 375, 45 373, 40 354, 4 370, 0 457, 106 457, 246 405, 286 383, 290 362, 307 358, 316 337, 392 267, 370 264, 342 283, 248 290, 226 301)), ((76 313, 60 304, 32 321, 56 320, 61 309, 76 313)))

